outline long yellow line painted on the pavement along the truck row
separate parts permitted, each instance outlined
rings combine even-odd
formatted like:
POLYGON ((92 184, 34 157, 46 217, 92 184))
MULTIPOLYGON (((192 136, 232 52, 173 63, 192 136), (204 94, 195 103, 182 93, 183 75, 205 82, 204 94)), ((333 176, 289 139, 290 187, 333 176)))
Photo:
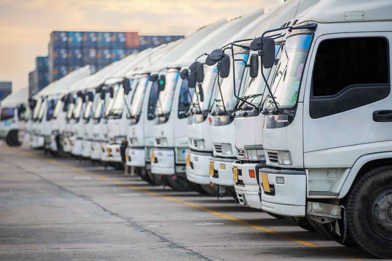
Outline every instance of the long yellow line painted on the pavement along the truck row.
POLYGON ((52 160, 50 158, 44 158, 44 157, 35 155, 33 153, 29 153, 29 152, 26 152, 26 151, 20 151, 18 149, 13 149, 13 148, 9 148, 9 147, 2 147, 2 148, 7 149, 9 151, 13 151, 13 152, 18 153, 18 154, 25 155, 27 157, 37 158, 39 160, 43 160, 43 161, 49 162, 51 164, 54 164, 54 165, 57 165, 57 166, 60 166, 60 167, 71 169, 73 171, 76 171, 76 172, 79 172, 79 173, 82 173, 82 174, 85 174, 85 175, 88 175, 88 176, 92 176, 92 177, 95 177, 95 178, 100 178, 102 180, 105 180, 105 181, 108 181, 108 182, 112 182, 112 183, 117 184, 117 185, 122 185, 122 186, 125 186, 125 187, 129 187, 131 189, 135 189, 137 191, 141 191, 141 192, 150 194, 151 196, 157 196, 157 197, 165 198, 167 200, 171 200, 171 201, 174 201, 174 202, 183 203, 183 204, 189 205, 191 207, 195 207, 197 209, 200 209, 202 211, 209 212, 209 213, 211 213, 211 214, 213 214, 215 216, 220 216, 221 218, 225 218, 225 219, 228 219, 228 220, 240 223, 242 225, 245 225, 245 226, 248 226, 248 227, 252 227, 254 229, 261 230, 261 231, 273 234, 273 235, 278 236, 280 238, 284 238, 284 239, 296 242, 296 243, 301 244, 301 245, 314 247, 314 248, 317 248, 317 249, 319 249, 321 251, 324 251, 324 252, 327 252, 327 253, 330 253, 330 254, 334 254, 336 256, 345 257, 347 259, 351 259, 351 260, 355 260, 355 261, 363 261, 362 259, 358 259, 358 258, 355 258, 355 257, 347 256, 345 254, 341 254, 341 253, 338 253, 338 252, 335 252, 335 251, 331 251, 331 250, 329 250, 327 248, 320 247, 318 245, 314 245, 312 243, 309 243, 309 242, 306 242, 306 241, 302 241, 302 240, 299 240, 299 239, 296 239, 296 238, 293 238, 293 237, 290 237, 290 236, 286 236, 285 234, 276 232, 274 230, 266 229, 264 227, 260 227, 258 225, 254 225, 254 224, 248 223, 247 221, 239 220, 238 218, 234 218, 232 216, 228 216, 228 215, 222 214, 220 212, 213 211, 211 209, 207 209, 206 207, 202 207, 201 205, 198 205, 198 204, 190 203, 190 202, 187 202, 187 201, 184 201, 184 200, 179 200, 179 199, 172 198, 172 197, 169 197, 169 196, 164 196, 164 195, 161 195, 161 194, 158 194, 158 193, 151 192, 151 191, 149 191, 147 189, 141 189, 140 187, 136 187, 136 186, 133 186, 133 185, 125 184, 125 183, 117 181, 117 180, 112 180, 111 178, 107 178, 105 176, 93 174, 93 173, 90 173, 90 172, 85 171, 83 169, 79 169, 77 167, 69 166, 67 164, 58 162, 56 160, 52 160))

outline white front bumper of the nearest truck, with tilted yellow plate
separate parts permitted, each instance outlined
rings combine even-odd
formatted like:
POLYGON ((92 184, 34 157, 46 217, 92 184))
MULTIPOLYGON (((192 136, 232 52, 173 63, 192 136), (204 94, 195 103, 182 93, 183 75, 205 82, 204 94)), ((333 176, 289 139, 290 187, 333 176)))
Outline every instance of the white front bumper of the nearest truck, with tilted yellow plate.
POLYGON ((305 216, 305 171, 263 168, 259 171, 259 180, 261 209, 284 216, 305 216), (277 180, 282 183, 282 178, 283 184, 277 184, 277 180))

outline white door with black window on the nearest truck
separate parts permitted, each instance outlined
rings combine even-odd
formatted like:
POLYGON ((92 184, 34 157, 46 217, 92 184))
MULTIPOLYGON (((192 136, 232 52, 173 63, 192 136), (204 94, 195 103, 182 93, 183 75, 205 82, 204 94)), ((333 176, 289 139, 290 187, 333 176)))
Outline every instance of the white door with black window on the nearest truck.
POLYGON ((306 167, 351 167, 392 140, 390 32, 317 39, 303 108, 306 167))

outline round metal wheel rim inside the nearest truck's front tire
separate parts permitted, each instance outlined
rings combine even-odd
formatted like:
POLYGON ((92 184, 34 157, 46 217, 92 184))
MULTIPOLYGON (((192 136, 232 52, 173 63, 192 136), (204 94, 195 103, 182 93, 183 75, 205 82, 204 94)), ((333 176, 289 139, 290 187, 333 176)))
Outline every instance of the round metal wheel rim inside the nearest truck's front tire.
POLYGON ((392 240, 392 186, 374 194, 369 202, 368 218, 370 226, 379 236, 392 240))

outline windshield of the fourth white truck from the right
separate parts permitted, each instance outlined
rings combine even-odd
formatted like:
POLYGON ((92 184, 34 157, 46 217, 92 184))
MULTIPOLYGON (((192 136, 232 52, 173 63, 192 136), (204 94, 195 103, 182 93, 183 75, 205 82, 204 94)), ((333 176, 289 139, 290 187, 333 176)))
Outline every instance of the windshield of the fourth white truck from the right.
POLYGON ((203 88, 204 101, 200 101, 200 94, 196 94, 196 92, 194 92, 193 94, 193 104, 198 106, 198 100, 197 100, 198 98, 201 112, 208 110, 210 107, 212 90, 214 90, 217 77, 218 77, 218 68, 216 68, 215 65, 207 67, 203 83, 201 83, 201 86, 203 88))

